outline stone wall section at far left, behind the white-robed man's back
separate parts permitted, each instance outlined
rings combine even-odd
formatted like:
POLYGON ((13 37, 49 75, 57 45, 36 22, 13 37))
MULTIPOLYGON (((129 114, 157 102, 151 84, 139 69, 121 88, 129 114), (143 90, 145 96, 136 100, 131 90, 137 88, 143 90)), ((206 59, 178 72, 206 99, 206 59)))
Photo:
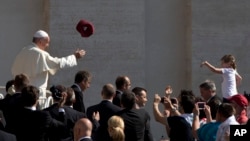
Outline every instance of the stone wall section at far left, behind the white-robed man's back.
POLYGON ((5 86, 16 54, 31 43, 36 30, 46 27, 47 18, 44 0, 3 0, 0 9, 0 85, 5 86))

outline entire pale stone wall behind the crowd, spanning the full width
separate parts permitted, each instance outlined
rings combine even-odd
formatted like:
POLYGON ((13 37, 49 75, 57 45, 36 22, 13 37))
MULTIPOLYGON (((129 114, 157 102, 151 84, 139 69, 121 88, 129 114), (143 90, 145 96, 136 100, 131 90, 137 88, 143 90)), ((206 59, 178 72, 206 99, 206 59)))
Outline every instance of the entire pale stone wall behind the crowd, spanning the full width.
POLYGON ((0 85, 12 78, 15 55, 31 42, 36 30, 45 29, 51 35, 53 56, 65 56, 77 48, 87 51, 77 67, 60 70, 50 84, 70 86, 78 70, 89 70, 94 77, 85 103, 90 106, 101 100, 105 83, 114 84, 118 75, 128 75, 132 87, 148 90, 146 109, 158 141, 166 132, 152 114, 155 93, 163 95, 170 84, 175 96, 181 89, 193 89, 199 95, 198 85, 205 79, 213 79, 220 90, 221 76, 201 69, 201 60, 219 65, 222 55, 234 54, 244 79, 239 90, 248 90, 249 4, 247 0, 4 0, 0 85), (90 38, 81 38, 75 30, 82 18, 95 26, 90 38))

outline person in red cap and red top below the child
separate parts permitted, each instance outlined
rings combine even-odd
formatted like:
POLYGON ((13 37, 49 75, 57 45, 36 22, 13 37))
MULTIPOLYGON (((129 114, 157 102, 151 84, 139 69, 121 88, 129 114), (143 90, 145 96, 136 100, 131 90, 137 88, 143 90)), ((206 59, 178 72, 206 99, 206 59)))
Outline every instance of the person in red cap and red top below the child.
POLYGON ((229 98, 229 101, 235 108, 235 118, 240 124, 246 124, 248 121, 247 117, 247 106, 248 100, 243 94, 237 94, 229 98))

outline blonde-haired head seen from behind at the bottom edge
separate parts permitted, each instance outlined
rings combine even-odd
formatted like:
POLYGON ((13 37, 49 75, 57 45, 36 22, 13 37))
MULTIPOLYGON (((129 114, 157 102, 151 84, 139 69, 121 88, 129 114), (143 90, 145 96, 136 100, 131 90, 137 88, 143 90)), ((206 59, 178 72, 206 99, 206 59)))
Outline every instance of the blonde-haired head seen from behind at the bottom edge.
POLYGON ((124 141, 124 121, 120 116, 112 116, 108 120, 108 132, 113 141, 124 141))

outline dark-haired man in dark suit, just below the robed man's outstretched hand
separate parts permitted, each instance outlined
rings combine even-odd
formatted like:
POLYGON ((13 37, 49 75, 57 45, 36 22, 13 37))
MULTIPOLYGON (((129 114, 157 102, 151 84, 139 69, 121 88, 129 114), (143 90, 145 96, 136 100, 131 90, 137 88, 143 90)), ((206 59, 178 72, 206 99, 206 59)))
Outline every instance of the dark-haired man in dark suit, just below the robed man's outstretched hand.
POLYGON ((78 71, 75 75, 75 83, 71 86, 75 92, 76 101, 73 108, 85 113, 83 92, 90 87, 91 74, 88 71, 78 71))

